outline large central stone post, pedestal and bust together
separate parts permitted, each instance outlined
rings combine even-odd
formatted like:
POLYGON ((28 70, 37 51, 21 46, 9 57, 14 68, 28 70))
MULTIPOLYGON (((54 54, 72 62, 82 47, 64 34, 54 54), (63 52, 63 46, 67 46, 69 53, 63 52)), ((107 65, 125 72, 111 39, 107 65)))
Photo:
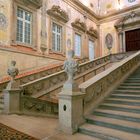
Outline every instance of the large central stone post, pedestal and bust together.
POLYGON ((84 94, 80 92, 77 83, 73 79, 78 69, 78 63, 73 57, 74 51, 69 50, 68 59, 64 63, 68 80, 59 94, 59 128, 68 134, 77 132, 79 125, 85 121, 83 117, 84 94))

